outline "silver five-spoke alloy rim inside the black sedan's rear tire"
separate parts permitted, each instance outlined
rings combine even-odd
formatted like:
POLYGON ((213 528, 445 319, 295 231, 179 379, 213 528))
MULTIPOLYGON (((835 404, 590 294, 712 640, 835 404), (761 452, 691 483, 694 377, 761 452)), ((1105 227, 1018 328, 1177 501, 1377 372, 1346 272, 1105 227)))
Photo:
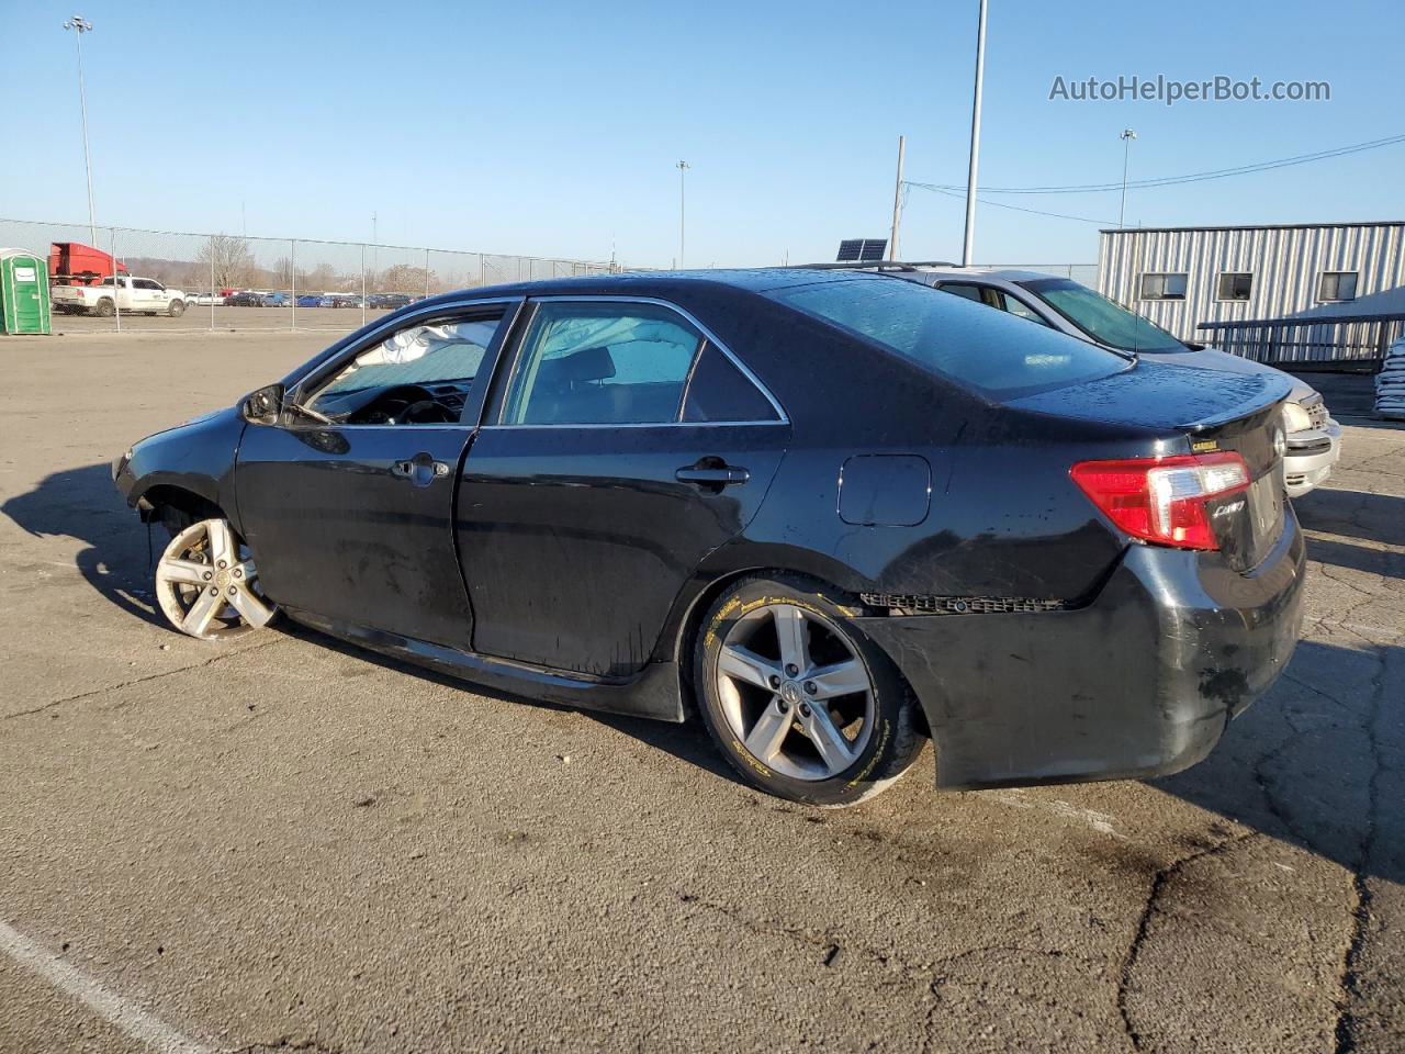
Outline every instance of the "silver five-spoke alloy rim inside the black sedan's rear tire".
POLYGON ((849 634, 818 611, 784 601, 747 611, 722 641, 715 672, 732 735, 781 776, 832 779, 868 743, 868 668, 849 634))

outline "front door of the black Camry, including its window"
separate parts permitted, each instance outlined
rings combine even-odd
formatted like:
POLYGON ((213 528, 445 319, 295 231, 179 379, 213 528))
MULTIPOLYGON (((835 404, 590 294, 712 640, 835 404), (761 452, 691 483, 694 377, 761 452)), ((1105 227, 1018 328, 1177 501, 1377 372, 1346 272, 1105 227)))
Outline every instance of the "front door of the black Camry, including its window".
POLYGON ((249 424, 235 486, 267 594, 280 604, 468 649, 454 486, 516 305, 381 327, 249 424))

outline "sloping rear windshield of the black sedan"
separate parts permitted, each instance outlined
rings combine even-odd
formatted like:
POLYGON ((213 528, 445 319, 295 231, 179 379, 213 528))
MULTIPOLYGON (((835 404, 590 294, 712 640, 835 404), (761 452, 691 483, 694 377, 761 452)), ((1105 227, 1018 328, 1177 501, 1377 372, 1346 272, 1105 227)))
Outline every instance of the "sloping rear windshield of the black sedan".
POLYGON ((769 294, 996 398, 1127 370, 1111 351, 901 278, 826 281, 769 294))

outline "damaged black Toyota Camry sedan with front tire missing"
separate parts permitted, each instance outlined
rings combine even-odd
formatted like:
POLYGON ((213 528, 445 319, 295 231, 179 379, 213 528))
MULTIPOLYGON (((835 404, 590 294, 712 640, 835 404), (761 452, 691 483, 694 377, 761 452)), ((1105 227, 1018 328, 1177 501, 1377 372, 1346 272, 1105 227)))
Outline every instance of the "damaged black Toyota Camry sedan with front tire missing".
POLYGON ((289 617, 683 721, 842 805, 1204 757, 1287 662, 1267 375, 1137 361, 898 278, 436 297, 118 458, 180 630, 289 617))

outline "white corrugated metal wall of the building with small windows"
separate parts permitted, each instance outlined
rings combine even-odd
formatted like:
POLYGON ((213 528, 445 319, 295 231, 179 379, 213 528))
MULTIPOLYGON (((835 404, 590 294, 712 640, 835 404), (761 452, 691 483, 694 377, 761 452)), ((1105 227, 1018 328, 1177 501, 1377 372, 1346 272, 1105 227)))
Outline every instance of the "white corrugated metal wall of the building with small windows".
POLYGON ((1405 311, 1405 223, 1104 230, 1099 289, 1183 340, 1201 322, 1405 311), (1253 274, 1248 301, 1218 299, 1220 275, 1253 274), (1322 271, 1356 271, 1356 299, 1322 302, 1322 271), (1184 274, 1186 299, 1144 301, 1144 274, 1184 274))

